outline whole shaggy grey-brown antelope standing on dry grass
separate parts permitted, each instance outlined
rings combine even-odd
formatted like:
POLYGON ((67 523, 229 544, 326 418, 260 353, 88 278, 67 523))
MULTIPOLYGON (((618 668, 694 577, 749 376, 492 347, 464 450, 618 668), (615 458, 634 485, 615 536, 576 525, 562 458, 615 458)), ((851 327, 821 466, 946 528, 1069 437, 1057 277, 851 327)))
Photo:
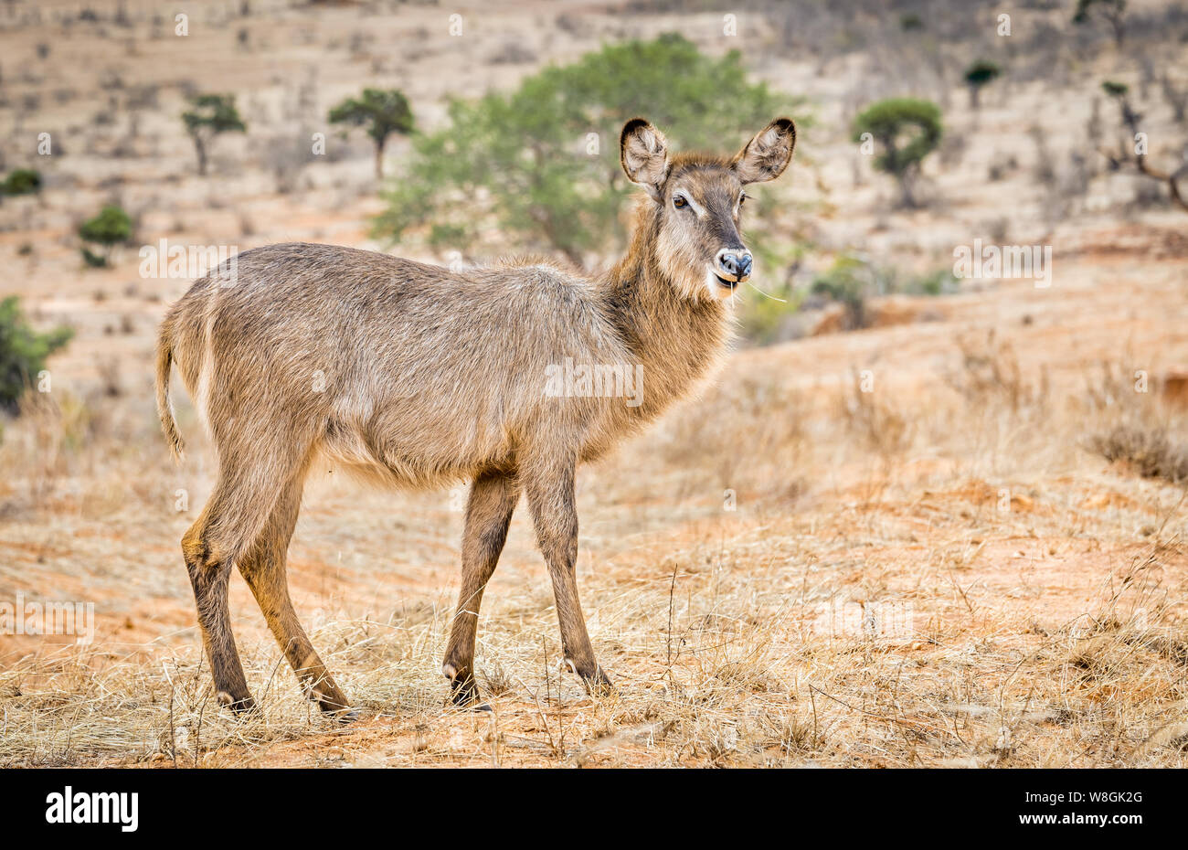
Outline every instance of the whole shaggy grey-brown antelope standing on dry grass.
POLYGON ((194 283, 160 327, 157 407, 181 461, 169 395, 176 363, 217 455, 216 484, 182 554, 219 701, 255 707, 227 606, 234 566, 305 695, 331 717, 355 717, 302 629, 285 577, 318 458, 394 487, 470 481, 442 667, 454 704, 489 707, 474 676, 479 605, 522 492, 564 663, 588 693, 611 692, 577 599, 576 466, 703 386, 723 360, 727 301, 752 272, 739 237, 744 187, 783 174, 795 143, 795 125, 779 118, 732 158, 670 155, 659 130, 627 121, 620 163, 646 195, 626 254, 595 277, 532 259, 455 273, 283 244, 239 254, 233 285, 214 272, 194 283), (550 367, 570 361, 632 367, 643 391, 630 404, 550 391, 550 367))

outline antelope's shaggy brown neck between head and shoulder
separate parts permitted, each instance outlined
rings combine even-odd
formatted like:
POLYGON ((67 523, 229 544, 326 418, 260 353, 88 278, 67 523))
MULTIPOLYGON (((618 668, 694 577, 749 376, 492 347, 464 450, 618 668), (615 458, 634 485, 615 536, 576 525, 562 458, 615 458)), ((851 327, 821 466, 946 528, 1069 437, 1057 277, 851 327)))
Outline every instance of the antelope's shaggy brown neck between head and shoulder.
POLYGON ((731 340, 722 301, 682 298, 656 262, 650 223, 636 228, 631 248, 600 281, 604 308, 643 367, 645 420, 688 393, 721 363, 731 340))

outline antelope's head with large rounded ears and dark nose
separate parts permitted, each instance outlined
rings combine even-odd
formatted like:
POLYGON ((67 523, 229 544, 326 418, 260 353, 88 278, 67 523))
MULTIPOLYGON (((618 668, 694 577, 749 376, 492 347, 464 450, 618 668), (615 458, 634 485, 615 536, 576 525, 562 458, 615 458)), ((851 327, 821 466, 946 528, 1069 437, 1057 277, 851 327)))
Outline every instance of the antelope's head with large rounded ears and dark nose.
POLYGON ((789 118, 769 124, 732 159, 670 156, 664 134, 644 119, 624 126, 623 170, 657 204, 651 231, 656 260, 684 297, 725 298, 751 277, 753 258, 739 235, 744 187, 782 175, 795 145, 789 118))

